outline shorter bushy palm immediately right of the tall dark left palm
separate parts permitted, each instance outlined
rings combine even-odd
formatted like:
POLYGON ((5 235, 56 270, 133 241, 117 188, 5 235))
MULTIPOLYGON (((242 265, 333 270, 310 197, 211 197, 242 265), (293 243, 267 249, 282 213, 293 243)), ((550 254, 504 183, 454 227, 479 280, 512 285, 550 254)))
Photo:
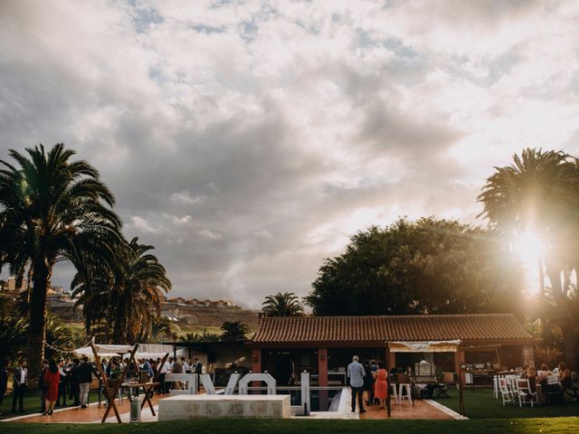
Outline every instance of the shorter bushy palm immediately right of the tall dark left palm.
POLYGON ((166 269, 147 253, 153 246, 138 238, 117 246, 114 267, 88 267, 73 279, 73 294, 81 294, 87 331, 105 323, 105 339, 133 343, 147 339, 161 314, 163 292, 171 289, 166 269))

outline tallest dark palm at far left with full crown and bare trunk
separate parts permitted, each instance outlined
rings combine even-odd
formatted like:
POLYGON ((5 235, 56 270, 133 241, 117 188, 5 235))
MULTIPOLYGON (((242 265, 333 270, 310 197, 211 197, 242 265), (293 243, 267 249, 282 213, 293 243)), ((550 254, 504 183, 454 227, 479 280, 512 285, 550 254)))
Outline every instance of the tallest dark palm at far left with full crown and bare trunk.
POLYGON ((111 246, 119 240, 121 222, 111 211, 115 202, 99 172, 86 161, 71 161, 74 151, 57 144, 26 148, 0 160, 0 267, 9 264, 20 285, 32 279, 28 358, 35 382, 44 354, 46 291, 56 262, 111 263, 111 246))

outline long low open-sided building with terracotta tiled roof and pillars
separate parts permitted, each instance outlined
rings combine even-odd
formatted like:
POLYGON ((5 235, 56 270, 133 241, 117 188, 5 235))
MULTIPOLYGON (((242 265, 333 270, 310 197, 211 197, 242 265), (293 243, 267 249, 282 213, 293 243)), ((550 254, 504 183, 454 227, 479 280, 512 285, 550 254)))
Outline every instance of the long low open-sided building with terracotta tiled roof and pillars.
MULTIPOLYGON (((456 373, 502 370, 533 363, 529 334, 513 314, 421 316, 261 317, 252 340, 252 369, 280 372, 293 363, 318 374, 319 384, 344 376, 353 354, 384 360, 389 368, 414 366, 422 358, 456 373), (454 353, 393 353, 390 342, 460 341, 454 353), (484 368, 481 368, 483 366, 484 368)), ((280 374, 281 377, 284 373, 280 374)))

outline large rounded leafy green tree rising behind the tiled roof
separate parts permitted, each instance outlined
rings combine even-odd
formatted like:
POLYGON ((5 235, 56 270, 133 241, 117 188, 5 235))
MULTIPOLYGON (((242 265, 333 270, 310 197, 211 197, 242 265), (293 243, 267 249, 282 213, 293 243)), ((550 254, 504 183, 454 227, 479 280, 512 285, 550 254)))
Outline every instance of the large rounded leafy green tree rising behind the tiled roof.
POLYGON ((497 246, 492 231, 432 217, 373 226, 326 259, 306 302, 316 315, 516 309, 519 275, 497 246))

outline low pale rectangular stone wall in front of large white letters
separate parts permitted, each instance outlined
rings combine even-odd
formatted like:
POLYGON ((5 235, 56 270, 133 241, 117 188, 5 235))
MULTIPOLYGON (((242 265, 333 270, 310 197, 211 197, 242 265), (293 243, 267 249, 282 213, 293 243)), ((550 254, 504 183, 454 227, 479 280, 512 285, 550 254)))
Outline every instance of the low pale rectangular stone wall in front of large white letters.
POLYGON ((158 405, 159 421, 291 417, 289 395, 177 395, 158 405))

